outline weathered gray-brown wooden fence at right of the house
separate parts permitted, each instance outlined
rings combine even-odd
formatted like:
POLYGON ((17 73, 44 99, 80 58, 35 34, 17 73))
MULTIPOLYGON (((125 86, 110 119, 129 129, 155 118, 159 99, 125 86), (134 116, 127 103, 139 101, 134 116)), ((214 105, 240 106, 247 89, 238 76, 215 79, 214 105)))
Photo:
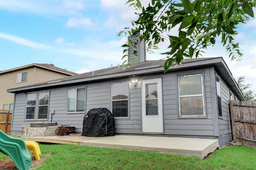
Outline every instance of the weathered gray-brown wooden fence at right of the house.
POLYGON ((233 140, 256 146, 256 103, 230 101, 233 140))

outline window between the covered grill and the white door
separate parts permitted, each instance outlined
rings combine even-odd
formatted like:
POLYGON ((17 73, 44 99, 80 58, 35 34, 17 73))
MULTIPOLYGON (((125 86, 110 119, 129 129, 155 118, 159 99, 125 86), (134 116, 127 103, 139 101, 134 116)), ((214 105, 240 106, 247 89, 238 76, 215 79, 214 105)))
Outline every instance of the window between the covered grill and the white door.
POLYGON ((128 117, 129 83, 112 84, 112 113, 115 117, 128 117))

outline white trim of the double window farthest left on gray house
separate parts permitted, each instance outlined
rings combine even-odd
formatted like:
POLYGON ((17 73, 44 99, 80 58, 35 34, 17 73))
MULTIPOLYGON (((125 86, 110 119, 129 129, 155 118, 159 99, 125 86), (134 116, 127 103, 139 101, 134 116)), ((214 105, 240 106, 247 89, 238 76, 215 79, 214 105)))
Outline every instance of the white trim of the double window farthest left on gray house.
POLYGON ((25 121, 47 121, 48 118, 49 118, 50 91, 31 92, 29 94, 27 94, 27 98, 26 98, 25 121), (47 106, 47 105, 38 105, 38 103, 39 103, 39 93, 42 93, 42 92, 48 92, 49 93, 48 108, 47 108, 47 118, 38 118, 38 106, 47 106), (27 106, 28 95, 29 94, 36 94, 36 105, 35 106, 27 106), (33 118, 33 119, 26 119, 26 117, 27 117, 27 107, 35 107, 35 118, 33 118))

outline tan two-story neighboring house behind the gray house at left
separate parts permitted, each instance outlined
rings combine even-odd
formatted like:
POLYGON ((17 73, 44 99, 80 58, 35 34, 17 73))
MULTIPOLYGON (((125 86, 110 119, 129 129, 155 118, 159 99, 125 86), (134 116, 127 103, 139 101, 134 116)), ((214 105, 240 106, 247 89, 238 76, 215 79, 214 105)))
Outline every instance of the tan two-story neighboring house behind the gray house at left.
POLYGON ((65 78, 75 74, 53 64, 29 64, 0 71, 0 110, 13 109, 14 95, 7 92, 7 89, 65 78))

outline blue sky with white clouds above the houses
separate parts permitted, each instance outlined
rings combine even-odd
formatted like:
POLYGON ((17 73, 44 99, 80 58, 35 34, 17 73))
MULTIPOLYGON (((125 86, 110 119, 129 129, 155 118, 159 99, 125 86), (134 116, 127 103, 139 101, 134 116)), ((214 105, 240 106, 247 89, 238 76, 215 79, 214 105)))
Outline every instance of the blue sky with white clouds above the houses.
MULTIPOLYGON (((121 63, 126 38, 116 33, 135 17, 125 2, 0 0, 0 70, 52 63, 82 73, 121 63)), ((224 57, 235 78, 245 75, 247 82, 256 84, 256 20, 237 30, 236 41, 244 53, 240 62, 231 62, 219 42, 204 56, 224 57)), ((171 34, 176 32, 174 28, 171 34)), ((167 43, 160 44, 148 60, 163 58, 159 53, 166 47, 167 43)))

